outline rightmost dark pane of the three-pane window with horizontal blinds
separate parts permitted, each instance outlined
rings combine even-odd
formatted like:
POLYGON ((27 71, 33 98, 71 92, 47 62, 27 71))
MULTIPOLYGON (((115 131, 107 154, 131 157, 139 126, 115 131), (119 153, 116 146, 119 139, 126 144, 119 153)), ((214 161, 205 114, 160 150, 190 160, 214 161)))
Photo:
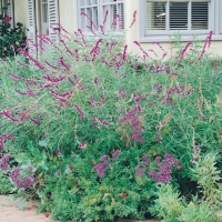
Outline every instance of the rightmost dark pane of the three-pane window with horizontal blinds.
POLYGON ((191 28, 192 30, 209 29, 209 3, 192 2, 191 8, 191 28))

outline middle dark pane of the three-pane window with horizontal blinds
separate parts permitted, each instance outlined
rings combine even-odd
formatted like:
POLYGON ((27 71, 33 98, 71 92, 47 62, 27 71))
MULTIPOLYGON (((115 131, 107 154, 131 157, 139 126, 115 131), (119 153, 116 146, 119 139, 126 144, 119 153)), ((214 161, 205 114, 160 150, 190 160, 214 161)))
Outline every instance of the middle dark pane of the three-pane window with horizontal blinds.
POLYGON ((188 30, 188 2, 170 2, 170 30, 188 30))

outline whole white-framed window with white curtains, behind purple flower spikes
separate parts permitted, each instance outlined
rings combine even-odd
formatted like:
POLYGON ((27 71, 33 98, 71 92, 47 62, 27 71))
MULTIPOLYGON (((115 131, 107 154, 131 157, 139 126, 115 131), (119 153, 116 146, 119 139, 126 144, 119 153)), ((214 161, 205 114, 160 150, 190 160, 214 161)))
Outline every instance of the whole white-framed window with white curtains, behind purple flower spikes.
MULTIPOLYGON (((121 32, 124 29, 124 0, 77 0, 78 28, 90 33, 99 31, 104 23, 104 32, 121 32), (90 19, 89 19, 90 18, 90 19)), ((100 30, 101 31, 101 30, 100 30)))

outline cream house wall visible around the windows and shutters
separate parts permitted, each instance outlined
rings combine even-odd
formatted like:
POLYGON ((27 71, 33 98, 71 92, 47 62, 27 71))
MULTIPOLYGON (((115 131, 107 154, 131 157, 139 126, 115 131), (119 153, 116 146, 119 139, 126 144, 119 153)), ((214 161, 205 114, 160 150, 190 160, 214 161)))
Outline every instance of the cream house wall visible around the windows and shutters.
MULTIPOLYGON (((38 1, 38 0, 37 0, 38 1)), ((75 0, 59 0, 59 21, 62 24, 62 27, 69 31, 70 33, 73 33, 74 30, 77 30, 77 21, 75 21, 75 0)), ((27 14, 27 0, 14 0, 14 19, 16 22, 23 23, 24 28, 28 26, 28 14, 27 14)), ((133 43, 133 41, 139 41, 139 1, 135 0, 125 0, 125 28, 127 30, 127 44, 129 46, 129 52, 141 54, 141 50, 133 43), (131 22, 132 22, 132 14, 134 11, 138 11, 137 13, 137 20, 132 28, 129 29, 131 22)), ((38 19, 37 19, 37 27, 38 26, 38 19)), ((170 58, 173 53, 172 44, 168 42, 162 42, 161 46, 163 49, 168 52, 168 57, 170 58)), ((141 47, 148 51, 149 49, 154 50, 154 52, 158 54, 159 58, 162 58, 162 54, 164 53, 157 44, 152 43, 141 43, 141 47)), ((211 48, 209 52, 213 52, 214 54, 222 57, 222 41, 212 41, 211 48)), ((150 52, 152 56, 153 53, 150 52)), ((153 54, 154 57, 154 54, 153 54)))

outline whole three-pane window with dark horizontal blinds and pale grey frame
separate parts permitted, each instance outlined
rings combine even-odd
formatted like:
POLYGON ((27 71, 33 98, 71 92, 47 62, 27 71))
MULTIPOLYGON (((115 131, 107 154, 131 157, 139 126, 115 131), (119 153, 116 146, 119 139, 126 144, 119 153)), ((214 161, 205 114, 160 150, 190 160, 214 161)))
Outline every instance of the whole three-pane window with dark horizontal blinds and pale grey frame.
POLYGON ((169 41, 169 34, 178 31, 186 40, 193 34, 205 36, 211 30, 215 33, 219 29, 215 29, 218 23, 215 20, 219 17, 215 2, 219 3, 219 1, 221 2, 221 0, 142 0, 140 6, 140 23, 143 21, 140 26, 141 39, 169 41))

